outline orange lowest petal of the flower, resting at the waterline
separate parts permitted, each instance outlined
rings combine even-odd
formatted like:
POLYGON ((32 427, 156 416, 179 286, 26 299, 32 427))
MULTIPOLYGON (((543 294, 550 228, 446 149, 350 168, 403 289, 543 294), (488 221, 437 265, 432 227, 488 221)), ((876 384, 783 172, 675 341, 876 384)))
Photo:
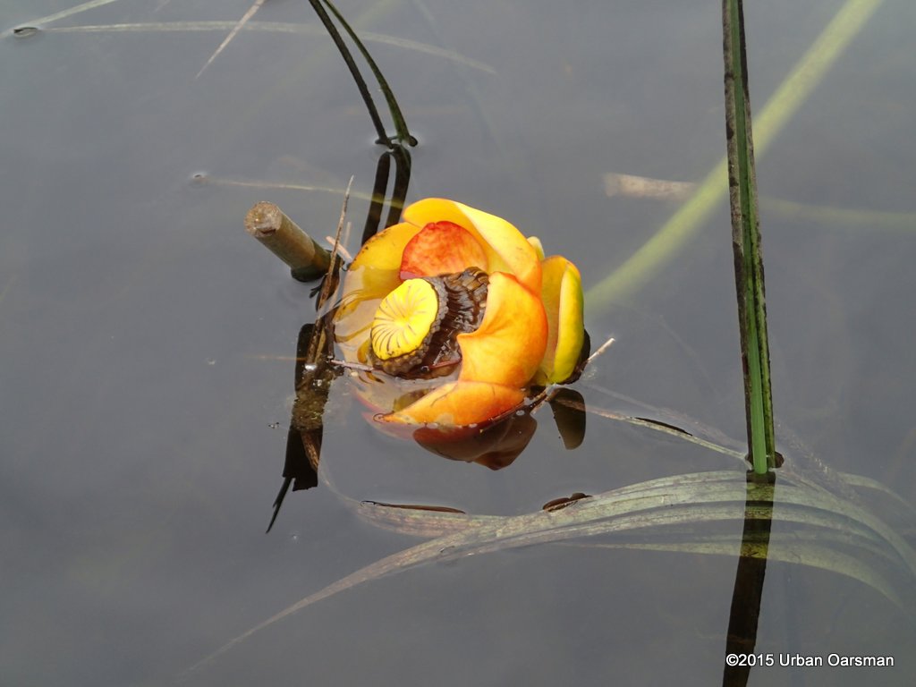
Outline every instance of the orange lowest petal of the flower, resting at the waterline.
POLYGON ((473 425, 493 420, 524 400, 525 393, 514 387, 486 382, 449 382, 407 408, 383 415, 379 420, 398 424, 435 423, 441 428, 473 425))

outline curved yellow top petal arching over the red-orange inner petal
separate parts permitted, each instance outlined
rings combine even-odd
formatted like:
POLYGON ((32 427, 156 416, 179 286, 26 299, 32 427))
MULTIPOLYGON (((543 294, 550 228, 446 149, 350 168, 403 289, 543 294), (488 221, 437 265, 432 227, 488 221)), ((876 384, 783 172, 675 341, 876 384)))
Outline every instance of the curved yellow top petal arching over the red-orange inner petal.
MULTIPOLYGON (((427 198, 404 210, 404 221, 418 226, 452 222, 474 234, 484 248, 491 272, 509 272, 526 287, 540 293, 540 256, 512 224, 460 202, 427 198)), ((474 267, 467 265, 465 267, 474 267)))

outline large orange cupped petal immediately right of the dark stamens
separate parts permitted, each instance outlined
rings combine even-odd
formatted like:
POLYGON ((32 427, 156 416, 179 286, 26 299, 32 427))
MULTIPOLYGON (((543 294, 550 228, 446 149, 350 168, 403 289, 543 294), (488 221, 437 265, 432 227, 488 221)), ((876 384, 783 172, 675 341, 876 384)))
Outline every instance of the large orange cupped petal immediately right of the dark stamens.
POLYGON ((490 275, 484 321, 458 335, 459 379, 527 387, 547 349, 547 316, 540 300, 511 275, 490 275))

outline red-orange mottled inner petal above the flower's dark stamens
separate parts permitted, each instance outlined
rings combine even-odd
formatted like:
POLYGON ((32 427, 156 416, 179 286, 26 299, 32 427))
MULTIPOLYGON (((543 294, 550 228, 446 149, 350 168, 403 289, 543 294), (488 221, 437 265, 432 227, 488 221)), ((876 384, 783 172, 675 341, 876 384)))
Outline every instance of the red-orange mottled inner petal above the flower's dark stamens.
POLYGON ((467 229, 453 222, 431 222, 404 247, 400 278, 437 277, 468 267, 487 271, 484 247, 467 229))

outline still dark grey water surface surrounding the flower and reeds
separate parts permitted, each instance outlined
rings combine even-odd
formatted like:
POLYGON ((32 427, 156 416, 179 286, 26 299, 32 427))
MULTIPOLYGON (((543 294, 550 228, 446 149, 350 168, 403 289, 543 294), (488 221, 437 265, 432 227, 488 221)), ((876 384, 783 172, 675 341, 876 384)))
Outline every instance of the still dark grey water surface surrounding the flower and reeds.
MULTIPOLYGON (((596 415, 567 452, 544 409, 528 450, 491 472, 383 437, 339 385, 322 465, 340 494, 326 484, 291 494, 265 535, 290 356, 313 310, 310 287, 242 219, 271 200, 332 234, 354 175, 358 234, 382 148, 308 3, 271 0, 255 19, 313 30, 242 31, 196 79, 228 27, 54 29, 232 23, 246 0, 121 0, 11 34, 72 5, 0 10, 0 683, 721 683, 736 548, 545 544, 432 562, 183 672, 423 540, 375 527, 348 498, 517 515, 576 491, 742 468, 596 415)), ((802 5, 748 9, 756 111, 842 3, 802 5)), ((408 200, 440 195, 504 216, 570 257, 586 289, 678 207, 608 196, 605 174, 698 182, 724 154, 718 3, 339 6, 360 30, 395 39, 368 46, 420 138, 408 200)), ((763 196, 815 208, 762 211, 777 417, 834 471, 910 503, 914 21, 910 2, 884 2, 758 159, 763 196), (872 214, 823 219, 844 209, 872 214)), ((593 343, 617 340, 576 386, 591 407, 667 421, 677 416, 661 409, 672 409, 743 436, 729 231, 720 203, 647 287, 590 308, 593 343)), ((911 511, 874 490, 862 499, 912 541, 911 511)), ((740 533, 740 520, 727 525, 740 533)), ((787 527, 778 516, 774 532, 787 527)), ((874 584, 770 562, 758 652, 896 665, 760 668, 750 684, 911 684, 914 646, 912 608, 874 584)))

